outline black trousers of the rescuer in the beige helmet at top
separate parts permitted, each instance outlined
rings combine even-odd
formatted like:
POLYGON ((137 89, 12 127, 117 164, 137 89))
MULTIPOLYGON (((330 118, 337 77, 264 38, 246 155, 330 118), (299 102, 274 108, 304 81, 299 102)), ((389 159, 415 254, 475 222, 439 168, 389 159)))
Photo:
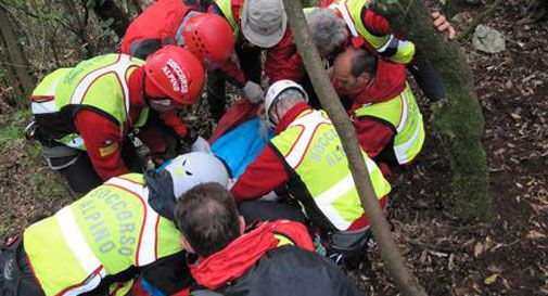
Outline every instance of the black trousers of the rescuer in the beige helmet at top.
MULTIPOLYGON (((238 42, 234 47, 240 68, 245 74, 245 78, 260 85, 263 64, 260 62, 260 48, 246 47, 244 42, 238 42)), ((220 69, 207 73, 207 103, 212 117, 219 121, 225 114, 227 104, 226 95, 227 76, 220 69)))

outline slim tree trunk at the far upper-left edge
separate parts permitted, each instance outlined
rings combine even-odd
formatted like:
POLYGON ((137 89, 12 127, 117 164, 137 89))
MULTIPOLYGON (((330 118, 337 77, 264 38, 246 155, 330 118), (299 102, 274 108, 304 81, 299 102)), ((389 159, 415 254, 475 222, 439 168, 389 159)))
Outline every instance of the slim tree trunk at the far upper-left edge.
POLYGON ((16 98, 15 103, 17 106, 27 105, 28 100, 25 96, 33 92, 35 80, 28 73, 30 64, 16 38, 11 17, 3 5, 0 5, 0 34, 7 52, 7 56, 2 59, 7 76, 11 87, 18 88, 18 91, 15 92, 16 95, 22 95, 22 98, 16 98))

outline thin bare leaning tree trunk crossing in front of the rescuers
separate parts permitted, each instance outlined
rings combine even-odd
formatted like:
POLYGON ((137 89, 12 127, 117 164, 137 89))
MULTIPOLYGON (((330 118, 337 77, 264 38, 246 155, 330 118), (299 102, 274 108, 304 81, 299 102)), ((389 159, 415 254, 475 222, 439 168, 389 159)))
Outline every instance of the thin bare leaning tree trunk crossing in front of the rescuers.
POLYGON ((318 50, 314 44, 308 25, 303 14, 301 1, 284 0, 285 12, 290 20, 291 29, 295 36, 298 52, 305 62, 306 70, 310 77, 314 89, 319 96, 322 107, 329 114, 341 138, 344 152, 348 157, 349 168, 354 183, 358 191, 361 205, 371 221, 373 235, 379 244, 381 255, 386 262, 390 274, 397 286, 408 296, 425 296, 424 288, 405 267, 404 258, 399 253, 394 239, 388 231, 388 222, 375 198, 373 186, 361 154, 358 140, 346 112, 323 69, 318 50))

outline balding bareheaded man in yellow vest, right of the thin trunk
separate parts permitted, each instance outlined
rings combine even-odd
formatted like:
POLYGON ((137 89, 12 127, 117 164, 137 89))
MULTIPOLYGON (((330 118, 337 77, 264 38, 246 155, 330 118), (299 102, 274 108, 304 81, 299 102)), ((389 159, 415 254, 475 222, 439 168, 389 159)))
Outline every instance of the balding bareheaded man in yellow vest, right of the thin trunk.
POLYGON ((405 73, 393 67, 366 50, 347 48, 333 64, 333 85, 353 101, 351 114, 361 147, 378 164, 400 168, 415 162, 425 133, 405 73))

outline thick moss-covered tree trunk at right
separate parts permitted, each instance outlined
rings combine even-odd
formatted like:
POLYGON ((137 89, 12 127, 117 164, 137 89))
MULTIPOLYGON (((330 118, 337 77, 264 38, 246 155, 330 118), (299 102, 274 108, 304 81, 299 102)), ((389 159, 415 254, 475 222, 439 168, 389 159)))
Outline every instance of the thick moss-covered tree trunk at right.
POLYGON ((392 28, 428 52, 447 88, 447 99, 433 106, 433 119, 451 166, 451 186, 459 216, 467 222, 490 215, 487 156, 482 140, 484 118, 473 88, 472 73, 460 46, 435 33, 422 1, 380 0, 373 7, 390 18, 392 28))

